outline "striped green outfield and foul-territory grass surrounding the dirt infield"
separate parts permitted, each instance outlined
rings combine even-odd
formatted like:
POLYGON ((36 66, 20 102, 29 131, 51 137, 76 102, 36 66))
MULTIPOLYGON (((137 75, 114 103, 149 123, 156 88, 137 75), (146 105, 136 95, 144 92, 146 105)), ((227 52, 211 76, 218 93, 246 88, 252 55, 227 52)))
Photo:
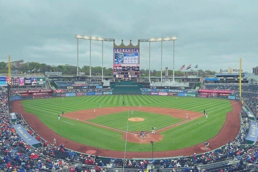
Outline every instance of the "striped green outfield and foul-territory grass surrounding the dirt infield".
MULTIPOLYGON (((225 114, 231 111, 229 100, 196 97, 178 97, 176 100, 175 97, 142 95, 123 96, 123 99, 121 97, 122 95, 65 97, 64 100, 62 98, 23 100, 22 104, 27 112, 36 114, 49 128, 67 139, 89 146, 119 151, 123 151, 125 145, 122 133, 68 118, 58 120, 57 114, 61 114, 61 111, 66 113, 82 109, 93 109, 94 107, 99 107, 99 104, 102 107, 123 106, 123 101, 125 101, 124 106, 138 106, 141 104, 141 106, 176 108, 200 113, 205 109, 209 113, 209 117, 205 122, 202 122, 206 120, 206 117, 203 116, 161 132, 163 139, 155 142, 154 151, 165 151, 193 146, 211 139, 218 134, 224 124, 225 114), (63 121, 75 125, 69 125, 63 121), (200 122, 202 123, 198 124, 200 122)), ((166 122, 166 120, 164 121, 166 122)), ((117 127, 120 125, 119 121, 113 122, 113 124, 110 124, 110 121, 107 120, 108 124, 106 125, 117 127)), ((129 125, 129 127, 134 130, 137 126, 133 128, 133 126, 129 125)), ((127 142, 127 151, 152 151, 152 147, 149 144, 127 142)))

